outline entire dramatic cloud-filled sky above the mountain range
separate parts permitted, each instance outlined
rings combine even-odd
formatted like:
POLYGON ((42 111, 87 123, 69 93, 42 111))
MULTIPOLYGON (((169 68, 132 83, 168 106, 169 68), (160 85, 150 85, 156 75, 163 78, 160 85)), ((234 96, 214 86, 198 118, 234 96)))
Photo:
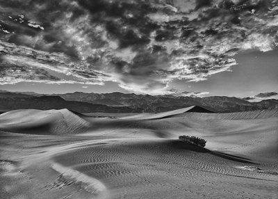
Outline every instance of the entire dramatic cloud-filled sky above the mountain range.
POLYGON ((0 0, 0 89, 276 92, 275 0, 0 0))

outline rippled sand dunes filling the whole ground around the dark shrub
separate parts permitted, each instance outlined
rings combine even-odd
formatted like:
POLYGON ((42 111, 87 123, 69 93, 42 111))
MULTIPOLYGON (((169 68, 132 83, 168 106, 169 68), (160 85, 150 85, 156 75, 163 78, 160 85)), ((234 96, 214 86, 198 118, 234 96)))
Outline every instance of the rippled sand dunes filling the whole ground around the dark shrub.
POLYGON ((277 198, 278 110, 0 116, 0 198, 277 198), (207 140, 206 148, 179 135, 207 140))

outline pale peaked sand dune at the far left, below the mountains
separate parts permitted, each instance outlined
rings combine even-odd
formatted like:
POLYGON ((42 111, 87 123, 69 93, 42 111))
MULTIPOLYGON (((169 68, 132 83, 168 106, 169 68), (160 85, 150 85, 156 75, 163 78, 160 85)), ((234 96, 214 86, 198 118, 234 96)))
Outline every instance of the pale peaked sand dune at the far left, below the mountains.
POLYGON ((67 109, 17 110, 0 116, 0 129, 28 134, 79 134, 85 132, 89 123, 67 109))

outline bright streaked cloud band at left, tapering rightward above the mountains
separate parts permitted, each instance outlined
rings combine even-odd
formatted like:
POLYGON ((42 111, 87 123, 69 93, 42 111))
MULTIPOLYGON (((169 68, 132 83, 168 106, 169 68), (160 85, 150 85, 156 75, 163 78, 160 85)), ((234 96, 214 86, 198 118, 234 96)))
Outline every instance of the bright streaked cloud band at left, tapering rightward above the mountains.
POLYGON ((103 74, 86 63, 72 61, 69 56, 34 51, 8 42, 0 43, 0 84, 21 81, 44 83, 86 83, 103 85, 113 77, 103 74))

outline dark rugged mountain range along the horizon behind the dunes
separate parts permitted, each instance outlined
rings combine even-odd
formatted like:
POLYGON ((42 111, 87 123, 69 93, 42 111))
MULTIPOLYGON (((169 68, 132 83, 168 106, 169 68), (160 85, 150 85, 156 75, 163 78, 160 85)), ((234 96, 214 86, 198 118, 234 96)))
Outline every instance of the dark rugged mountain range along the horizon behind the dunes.
POLYGON ((0 90, 0 109, 70 109, 80 113, 159 113, 188 106, 201 106, 213 112, 241 112, 277 109, 278 100, 248 102, 237 97, 177 97, 136 95, 134 93, 65 93, 44 95, 33 92, 0 90))

